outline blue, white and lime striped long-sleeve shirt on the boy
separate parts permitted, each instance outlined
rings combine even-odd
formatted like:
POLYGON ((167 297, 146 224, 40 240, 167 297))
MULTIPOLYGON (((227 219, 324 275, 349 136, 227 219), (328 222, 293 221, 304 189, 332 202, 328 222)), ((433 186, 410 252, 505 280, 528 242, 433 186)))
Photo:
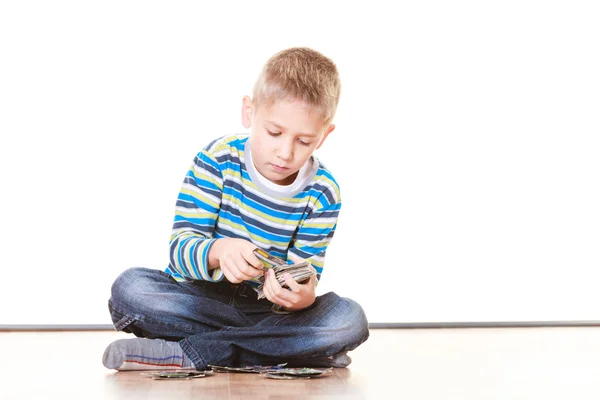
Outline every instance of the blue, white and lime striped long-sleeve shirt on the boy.
POLYGON ((291 252, 321 277, 341 207, 337 182, 313 156, 296 190, 273 191, 258 179, 248 140, 225 136, 194 158, 175 207, 166 269, 175 279, 222 280, 220 268, 208 270, 208 251, 219 238, 246 239, 284 259, 291 252))

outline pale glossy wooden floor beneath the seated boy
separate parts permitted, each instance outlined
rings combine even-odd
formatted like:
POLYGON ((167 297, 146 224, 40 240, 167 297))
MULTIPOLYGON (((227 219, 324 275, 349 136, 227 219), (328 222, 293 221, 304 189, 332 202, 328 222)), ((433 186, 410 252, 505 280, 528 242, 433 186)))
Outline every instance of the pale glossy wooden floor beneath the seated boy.
POLYGON ((0 333, 0 399, 600 399, 599 328, 374 329, 314 380, 157 381, 102 366, 116 332, 0 333))

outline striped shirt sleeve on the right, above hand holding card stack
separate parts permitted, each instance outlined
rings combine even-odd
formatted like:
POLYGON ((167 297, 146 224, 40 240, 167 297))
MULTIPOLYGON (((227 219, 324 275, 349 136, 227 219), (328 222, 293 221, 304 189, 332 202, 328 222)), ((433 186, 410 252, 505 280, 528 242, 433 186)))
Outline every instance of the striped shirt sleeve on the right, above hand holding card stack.
MULTIPOLYGON (((323 273, 325 253, 335 234, 341 201, 317 202, 317 208, 300 224, 289 252, 308 260, 317 271, 317 283, 323 273)), ((288 256, 289 260, 289 256, 288 256)))

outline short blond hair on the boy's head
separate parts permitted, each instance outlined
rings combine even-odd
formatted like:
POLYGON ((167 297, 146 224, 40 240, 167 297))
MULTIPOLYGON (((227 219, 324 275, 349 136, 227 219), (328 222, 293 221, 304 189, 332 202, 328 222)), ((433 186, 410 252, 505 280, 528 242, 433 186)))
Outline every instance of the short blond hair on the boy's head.
POLYGON ((273 55, 264 65, 252 91, 257 106, 278 100, 301 100, 331 123, 340 100, 341 82, 333 61, 307 47, 293 47, 273 55))

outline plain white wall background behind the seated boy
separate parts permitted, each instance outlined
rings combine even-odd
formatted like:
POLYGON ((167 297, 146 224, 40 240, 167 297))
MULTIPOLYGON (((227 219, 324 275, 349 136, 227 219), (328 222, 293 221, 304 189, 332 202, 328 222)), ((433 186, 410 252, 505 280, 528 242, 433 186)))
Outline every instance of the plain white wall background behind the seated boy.
POLYGON ((342 77, 319 294, 371 322, 599 319, 589 1, 0 4, 0 324, 110 323, 164 269, 177 193, 276 51, 342 77), (393 6, 392 6, 393 4, 393 6))

